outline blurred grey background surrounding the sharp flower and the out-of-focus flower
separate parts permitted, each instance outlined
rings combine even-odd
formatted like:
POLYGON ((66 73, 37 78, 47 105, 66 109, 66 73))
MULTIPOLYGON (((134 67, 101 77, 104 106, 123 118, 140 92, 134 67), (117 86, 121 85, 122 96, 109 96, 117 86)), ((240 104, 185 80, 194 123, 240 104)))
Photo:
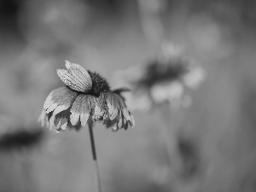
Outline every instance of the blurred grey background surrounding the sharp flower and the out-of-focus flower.
MULTIPOLYGON (((250 0, 1 0, 0 128, 41 129, 64 61, 101 73, 145 65, 162 42, 207 71, 193 103, 175 114, 177 171, 169 167, 160 109, 136 127, 95 127, 102 191, 256 191, 256 2, 250 0)), ((31 148, 0 151, 0 191, 94 191, 87 127, 31 148)))

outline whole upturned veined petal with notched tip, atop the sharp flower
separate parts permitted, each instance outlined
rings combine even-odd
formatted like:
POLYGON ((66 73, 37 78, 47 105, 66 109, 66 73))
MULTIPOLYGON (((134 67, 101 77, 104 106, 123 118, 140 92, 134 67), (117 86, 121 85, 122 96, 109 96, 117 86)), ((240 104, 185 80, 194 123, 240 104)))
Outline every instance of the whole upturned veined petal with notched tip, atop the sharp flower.
POLYGON ((66 61, 65 69, 57 69, 57 74, 61 80, 71 89, 81 92, 87 92, 92 87, 92 81, 89 73, 78 64, 66 61))

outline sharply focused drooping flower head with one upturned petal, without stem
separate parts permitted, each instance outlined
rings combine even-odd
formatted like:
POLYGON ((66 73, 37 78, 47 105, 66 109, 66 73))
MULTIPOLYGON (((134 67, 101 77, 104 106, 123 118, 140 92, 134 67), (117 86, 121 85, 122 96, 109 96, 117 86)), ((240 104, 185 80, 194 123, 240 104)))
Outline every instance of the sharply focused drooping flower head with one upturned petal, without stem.
POLYGON ((101 75, 78 64, 66 61, 66 67, 67 70, 57 70, 66 86, 52 90, 47 96, 38 118, 42 126, 57 132, 67 127, 79 130, 86 123, 93 125, 96 120, 102 120, 113 131, 134 126, 133 116, 120 91, 111 91, 101 75))

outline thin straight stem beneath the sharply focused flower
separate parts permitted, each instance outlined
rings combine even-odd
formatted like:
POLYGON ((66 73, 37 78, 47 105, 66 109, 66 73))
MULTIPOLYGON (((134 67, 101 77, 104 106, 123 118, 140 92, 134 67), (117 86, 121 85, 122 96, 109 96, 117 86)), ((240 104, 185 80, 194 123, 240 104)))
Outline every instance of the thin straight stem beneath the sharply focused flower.
POLYGON ((94 143, 94 137, 93 137, 93 126, 92 124, 89 124, 89 132, 90 132, 90 147, 91 147, 91 153, 92 153, 92 159, 94 164, 94 172, 95 172, 95 183, 96 183, 96 192, 101 192, 101 180, 100 180, 100 172, 99 167, 97 163, 97 157, 96 157, 96 148, 94 143))

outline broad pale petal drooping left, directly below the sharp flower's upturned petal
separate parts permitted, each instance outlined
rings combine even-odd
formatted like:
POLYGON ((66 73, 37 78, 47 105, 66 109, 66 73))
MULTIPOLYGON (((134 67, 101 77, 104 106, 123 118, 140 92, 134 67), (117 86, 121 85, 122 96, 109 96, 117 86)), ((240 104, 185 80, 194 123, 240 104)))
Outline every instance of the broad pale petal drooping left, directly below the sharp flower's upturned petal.
POLYGON ((44 102, 44 109, 46 113, 55 110, 53 115, 60 113, 71 106, 76 96, 78 96, 78 93, 69 90, 65 86, 52 90, 44 102))

